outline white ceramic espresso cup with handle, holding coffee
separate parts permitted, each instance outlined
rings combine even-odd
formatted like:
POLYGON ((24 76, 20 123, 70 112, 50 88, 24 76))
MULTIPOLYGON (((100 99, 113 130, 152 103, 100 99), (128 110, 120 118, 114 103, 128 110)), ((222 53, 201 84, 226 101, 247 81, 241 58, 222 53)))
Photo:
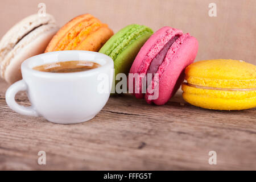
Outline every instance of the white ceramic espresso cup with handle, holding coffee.
POLYGON ((91 51, 56 51, 30 57, 21 65, 23 79, 6 92, 6 102, 19 114, 44 117, 48 121, 70 124, 92 119, 105 106, 113 81, 113 60, 91 51), (88 71, 51 73, 36 66, 60 61, 92 61, 101 66, 88 71), (102 92, 102 86, 105 86, 102 92), (26 91, 31 106, 17 104, 15 95, 26 91))

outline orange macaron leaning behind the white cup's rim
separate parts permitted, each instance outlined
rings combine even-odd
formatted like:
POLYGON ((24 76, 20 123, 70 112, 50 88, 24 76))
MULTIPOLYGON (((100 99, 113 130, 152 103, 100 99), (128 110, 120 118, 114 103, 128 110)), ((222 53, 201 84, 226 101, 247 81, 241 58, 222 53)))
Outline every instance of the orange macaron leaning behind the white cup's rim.
POLYGON ((63 50, 99 51, 113 35, 107 24, 90 14, 70 20, 53 36, 45 52, 63 50))

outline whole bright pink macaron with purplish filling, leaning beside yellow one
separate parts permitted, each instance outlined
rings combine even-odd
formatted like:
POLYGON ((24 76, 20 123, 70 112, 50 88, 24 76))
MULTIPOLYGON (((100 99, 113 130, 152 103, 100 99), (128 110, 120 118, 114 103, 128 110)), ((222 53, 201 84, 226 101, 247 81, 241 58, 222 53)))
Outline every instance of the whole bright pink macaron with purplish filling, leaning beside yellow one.
POLYGON ((145 98, 148 104, 166 104, 179 89, 184 69, 193 63, 197 50, 198 42, 193 36, 171 27, 160 28, 143 45, 131 66, 129 92, 145 98))

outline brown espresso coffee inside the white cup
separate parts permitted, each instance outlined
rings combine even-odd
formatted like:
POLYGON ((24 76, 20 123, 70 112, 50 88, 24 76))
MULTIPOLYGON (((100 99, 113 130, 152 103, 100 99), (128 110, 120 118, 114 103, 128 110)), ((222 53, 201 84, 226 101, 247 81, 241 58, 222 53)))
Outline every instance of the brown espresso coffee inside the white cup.
POLYGON ((98 68, 101 65, 91 61, 63 61, 57 63, 47 63, 33 69, 42 72, 51 73, 72 73, 72 72, 82 72, 94 68, 98 68))

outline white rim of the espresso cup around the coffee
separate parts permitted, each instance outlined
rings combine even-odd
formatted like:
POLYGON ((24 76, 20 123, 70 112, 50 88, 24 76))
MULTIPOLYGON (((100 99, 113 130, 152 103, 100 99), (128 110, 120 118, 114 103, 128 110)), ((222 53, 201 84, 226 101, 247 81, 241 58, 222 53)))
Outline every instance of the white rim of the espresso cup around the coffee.
MULTIPOLYGON (((77 60, 74 59, 74 60, 77 60)), ((63 60, 60 60, 63 61, 63 60)), ((67 60, 69 61, 69 60, 67 60)), ((96 61, 94 60, 88 60, 88 61, 96 61)), ((53 61, 54 63, 54 61, 53 61)), ((44 63, 45 64, 45 63, 44 63)), ((42 65, 42 64, 39 64, 42 65)), ((41 77, 67 77, 67 76, 88 76, 88 75, 92 75, 93 73, 98 73, 103 71, 103 69, 108 68, 108 67, 113 67, 114 68, 114 61, 111 57, 100 53, 100 52, 93 52, 93 51, 82 51, 82 50, 67 50, 67 51, 53 51, 53 52, 47 52, 47 53, 42 53, 36 56, 32 56, 28 59, 26 59, 25 61, 23 61, 22 65, 21 65, 21 71, 23 72, 30 72, 32 73, 32 75, 35 76, 41 76, 41 77), (98 68, 93 68, 90 70, 86 70, 86 71, 81 71, 81 72, 71 72, 71 73, 52 73, 52 72, 42 72, 42 71, 38 71, 35 69, 32 69, 29 65, 31 64, 32 61, 35 61, 35 59, 39 59, 42 58, 43 56, 56 56, 56 55, 67 55, 67 54, 72 54, 72 53, 82 53, 85 55, 97 55, 102 57, 102 59, 104 59, 106 61, 105 64, 101 64, 101 67, 98 68)))

